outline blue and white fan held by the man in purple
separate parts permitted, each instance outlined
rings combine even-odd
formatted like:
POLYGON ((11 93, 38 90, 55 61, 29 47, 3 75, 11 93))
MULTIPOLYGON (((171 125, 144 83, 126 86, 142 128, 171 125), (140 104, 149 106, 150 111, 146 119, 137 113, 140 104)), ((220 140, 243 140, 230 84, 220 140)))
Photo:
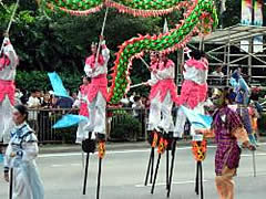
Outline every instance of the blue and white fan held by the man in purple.
POLYGON ((195 128, 211 128, 213 123, 213 117, 208 115, 195 113, 186 108, 185 106, 181 106, 181 108, 186 115, 186 117, 188 118, 192 126, 194 126, 195 128))

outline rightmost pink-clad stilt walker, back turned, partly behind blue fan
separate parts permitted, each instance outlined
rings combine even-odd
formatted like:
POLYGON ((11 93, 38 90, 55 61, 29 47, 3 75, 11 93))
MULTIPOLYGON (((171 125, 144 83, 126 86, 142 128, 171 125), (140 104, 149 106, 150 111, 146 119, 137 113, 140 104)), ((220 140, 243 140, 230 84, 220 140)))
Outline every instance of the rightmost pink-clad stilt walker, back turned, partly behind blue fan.
MULTIPOLYGON (((202 51, 191 51, 186 48, 185 53, 188 60, 182 69, 184 82, 181 88, 181 96, 176 98, 176 104, 183 105, 197 114, 204 114, 204 102, 207 100, 208 61, 202 51)), ((175 137, 183 137, 185 123, 186 115, 182 108, 178 108, 174 132, 175 137)), ((192 146, 196 159, 195 192, 203 199, 202 161, 205 158, 206 140, 203 139, 203 136, 195 135, 195 130, 196 127, 191 125, 191 135, 193 136, 192 146)))

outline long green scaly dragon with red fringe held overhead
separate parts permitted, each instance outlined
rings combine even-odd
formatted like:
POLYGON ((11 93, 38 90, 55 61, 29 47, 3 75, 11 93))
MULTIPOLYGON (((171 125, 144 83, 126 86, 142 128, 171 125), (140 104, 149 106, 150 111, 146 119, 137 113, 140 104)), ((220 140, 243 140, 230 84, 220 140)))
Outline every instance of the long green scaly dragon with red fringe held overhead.
POLYGON ((144 52, 173 52, 182 49, 196 34, 208 34, 217 27, 218 19, 213 0, 47 0, 47 6, 73 15, 86 15, 103 7, 115 8, 120 12, 135 17, 165 15, 184 9, 184 20, 175 29, 158 35, 139 35, 125 41, 116 53, 112 85, 108 101, 117 104, 130 88, 130 69, 135 57, 144 52))

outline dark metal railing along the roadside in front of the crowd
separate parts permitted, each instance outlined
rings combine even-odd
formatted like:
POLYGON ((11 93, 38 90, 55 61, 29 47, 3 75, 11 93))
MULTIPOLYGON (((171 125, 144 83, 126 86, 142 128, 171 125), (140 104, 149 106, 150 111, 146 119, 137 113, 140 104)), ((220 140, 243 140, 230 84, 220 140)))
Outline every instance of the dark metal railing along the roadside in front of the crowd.
MULTIPOLYGON (((106 136, 109 140, 143 140, 146 138, 149 109, 108 108, 106 136)), ((65 114, 79 114, 79 109, 29 108, 28 123, 34 129, 39 143, 74 143, 78 126, 55 129, 52 126, 65 114)))

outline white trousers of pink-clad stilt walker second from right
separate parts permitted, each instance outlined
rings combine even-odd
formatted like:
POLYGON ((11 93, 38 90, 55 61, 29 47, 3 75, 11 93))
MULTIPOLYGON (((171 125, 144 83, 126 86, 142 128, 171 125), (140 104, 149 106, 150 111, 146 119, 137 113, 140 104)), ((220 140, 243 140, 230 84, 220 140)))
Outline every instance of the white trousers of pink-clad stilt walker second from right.
POLYGON ((170 92, 167 92, 163 103, 160 102, 160 94, 157 94, 152 101, 149 114, 147 130, 163 128, 164 132, 173 132, 174 123, 172 117, 173 101, 170 92))

